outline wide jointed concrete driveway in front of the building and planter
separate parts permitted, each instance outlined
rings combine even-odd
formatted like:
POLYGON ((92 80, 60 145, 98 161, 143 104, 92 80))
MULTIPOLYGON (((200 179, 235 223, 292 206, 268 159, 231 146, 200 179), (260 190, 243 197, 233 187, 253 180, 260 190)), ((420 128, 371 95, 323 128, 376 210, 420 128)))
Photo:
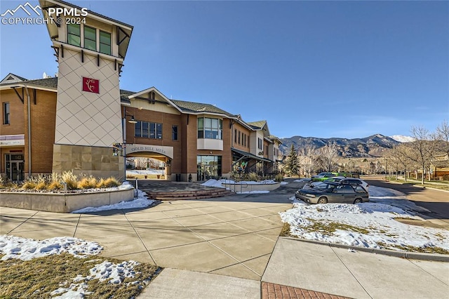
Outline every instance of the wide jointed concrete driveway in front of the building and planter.
POLYGON ((102 255, 260 281, 291 208, 292 182, 268 194, 163 201, 138 211, 61 214, 1 208, 0 234, 97 241, 102 255), (288 187, 286 187, 288 186, 288 187))

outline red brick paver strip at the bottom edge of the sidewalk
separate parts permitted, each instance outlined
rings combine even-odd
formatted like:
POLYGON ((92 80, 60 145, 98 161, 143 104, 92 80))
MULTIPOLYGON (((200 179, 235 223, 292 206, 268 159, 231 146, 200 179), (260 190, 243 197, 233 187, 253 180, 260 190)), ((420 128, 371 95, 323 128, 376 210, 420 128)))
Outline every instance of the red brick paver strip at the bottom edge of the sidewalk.
POLYGON ((349 299, 347 297, 320 293, 316 291, 304 290, 304 288, 293 288, 293 286, 281 286, 262 282, 262 299, 349 299))

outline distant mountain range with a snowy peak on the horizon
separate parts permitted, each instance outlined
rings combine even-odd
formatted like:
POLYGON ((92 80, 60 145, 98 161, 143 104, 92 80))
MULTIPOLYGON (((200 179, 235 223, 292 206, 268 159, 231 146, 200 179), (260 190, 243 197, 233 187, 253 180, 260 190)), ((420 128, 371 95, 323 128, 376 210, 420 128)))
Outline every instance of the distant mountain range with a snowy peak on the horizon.
POLYGON ((337 146, 341 157, 382 157, 384 152, 398 145, 400 142, 413 141, 408 136, 394 135, 391 137, 382 134, 375 134, 366 138, 316 138, 293 136, 290 138, 281 138, 283 144, 279 149, 284 155, 290 152, 290 147, 300 150, 304 147, 314 147, 319 149, 329 143, 337 146))

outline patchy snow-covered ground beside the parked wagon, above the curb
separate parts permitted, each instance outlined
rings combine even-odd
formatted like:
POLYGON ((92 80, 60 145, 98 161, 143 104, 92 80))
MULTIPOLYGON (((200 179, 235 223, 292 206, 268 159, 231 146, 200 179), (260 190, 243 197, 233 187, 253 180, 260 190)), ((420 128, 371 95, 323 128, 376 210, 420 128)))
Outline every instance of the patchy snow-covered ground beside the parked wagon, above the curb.
POLYGON ((421 219, 427 211, 394 190, 370 186, 370 202, 316 204, 293 200, 293 208, 280 213, 290 234, 302 239, 366 248, 401 250, 408 246, 449 250, 449 231, 406 225, 395 218, 421 219))

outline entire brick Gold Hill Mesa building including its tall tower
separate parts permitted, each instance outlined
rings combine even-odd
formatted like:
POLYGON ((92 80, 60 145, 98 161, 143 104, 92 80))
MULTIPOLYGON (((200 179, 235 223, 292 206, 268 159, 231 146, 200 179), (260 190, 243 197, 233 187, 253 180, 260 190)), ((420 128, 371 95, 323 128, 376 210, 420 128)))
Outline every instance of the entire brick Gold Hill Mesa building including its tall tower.
MULTIPOLYGON (((59 0, 39 4, 47 18, 48 8, 81 11, 59 0)), ((120 90, 133 27, 91 11, 85 18, 47 24, 58 77, 8 74, 0 82, 2 175, 23 180, 72 170, 123 179, 123 157, 163 161, 168 180, 277 172, 281 142, 267 121, 246 122, 213 105, 171 100, 154 87, 120 90)))

